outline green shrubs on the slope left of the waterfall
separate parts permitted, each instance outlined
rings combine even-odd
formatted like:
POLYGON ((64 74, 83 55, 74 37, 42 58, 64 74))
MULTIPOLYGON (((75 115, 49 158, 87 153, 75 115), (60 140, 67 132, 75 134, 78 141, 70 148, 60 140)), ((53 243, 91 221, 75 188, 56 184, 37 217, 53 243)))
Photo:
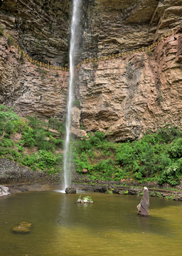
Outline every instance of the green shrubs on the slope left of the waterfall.
POLYGON ((63 123, 57 119, 43 122, 36 117, 21 119, 0 106, 0 157, 29 166, 33 171, 58 173, 63 162, 63 123), (56 129, 56 130, 53 130, 56 129))

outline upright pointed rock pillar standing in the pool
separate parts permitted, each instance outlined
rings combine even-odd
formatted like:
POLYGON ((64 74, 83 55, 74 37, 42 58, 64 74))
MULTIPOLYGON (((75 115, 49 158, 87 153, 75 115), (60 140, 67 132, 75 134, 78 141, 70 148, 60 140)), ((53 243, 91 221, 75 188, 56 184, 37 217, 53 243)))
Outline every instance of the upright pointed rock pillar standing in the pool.
POLYGON ((143 196, 137 209, 139 215, 149 216, 149 190, 146 187, 144 187, 143 196))

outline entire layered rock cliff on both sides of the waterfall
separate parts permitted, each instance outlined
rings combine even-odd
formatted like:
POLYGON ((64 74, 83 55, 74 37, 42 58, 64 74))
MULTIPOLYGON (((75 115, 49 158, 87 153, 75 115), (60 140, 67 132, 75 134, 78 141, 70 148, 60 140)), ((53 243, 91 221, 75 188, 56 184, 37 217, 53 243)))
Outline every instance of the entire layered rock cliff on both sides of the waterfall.
MULTIPOLYGON (((149 46, 181 23, 182 1, 89 0, 82 5, 81 58, 149 46)), ((28 55, 45 63, 68 61, 71 1, 4 0, 0 22, 28 55)), ((114 141, 137 139, 147 129, 181 124, 182 31, 154 53, 82 65, 76 75, 75 127, 101 130, 114 141)), ((67 72, 43 70, 21 58, 0 36, 0 103, 17 112, 65 118, 67 72)))

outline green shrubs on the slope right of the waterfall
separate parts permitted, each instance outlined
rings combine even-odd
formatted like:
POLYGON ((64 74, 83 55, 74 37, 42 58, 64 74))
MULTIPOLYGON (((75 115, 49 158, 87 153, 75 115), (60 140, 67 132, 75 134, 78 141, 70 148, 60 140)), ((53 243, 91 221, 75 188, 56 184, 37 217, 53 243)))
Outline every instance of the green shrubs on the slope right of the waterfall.
POLYGON ((112 143, 96 132, 90 139, 75 142, 77 171, 87 169, 92 179, 139 182, 158 181, 171 186, 182 176, 182 132, 166 125, 157 133, 148 133, 139 141, 112 143))

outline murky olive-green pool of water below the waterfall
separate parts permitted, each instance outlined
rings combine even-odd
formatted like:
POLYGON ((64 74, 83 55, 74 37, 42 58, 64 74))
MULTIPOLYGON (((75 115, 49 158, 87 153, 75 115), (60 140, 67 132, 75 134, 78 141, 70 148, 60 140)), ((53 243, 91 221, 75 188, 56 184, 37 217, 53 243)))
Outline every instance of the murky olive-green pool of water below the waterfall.
POLYGON ((139 196, 90 196, 89 205, 55 191, 0 198, 0 255, 181 255, 181 202, 150 198, 150 217, 141 218, 139 196), (22 221, 33 223, 31 233, 12 233, 22 221))

